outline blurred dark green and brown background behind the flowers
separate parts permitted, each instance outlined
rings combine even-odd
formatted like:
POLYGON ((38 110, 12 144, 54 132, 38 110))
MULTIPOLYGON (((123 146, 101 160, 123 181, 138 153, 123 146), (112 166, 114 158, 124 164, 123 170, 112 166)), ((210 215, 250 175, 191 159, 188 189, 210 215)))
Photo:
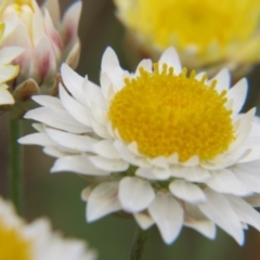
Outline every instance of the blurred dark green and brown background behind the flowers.
MULTIPOLYGON (((39 1, 40 3, 42 1, 39 1)), ((102 54, 113 47, 120 64, 131 69, 123 48, 125 28, 115 16, 112 0, 82 0, 83 10, 79 26, 82 43, 77 72, 99 83, 102 54)), ((60 1, 64 11, 72 0, 60 1)), ((129 53, 128 53, 129 55, 129 53)), ((250 90, 245 110, 260 106, 260 66, 247 75, 250 90)), ((0 195, 8 197, 8 121, 0 117, 0 195)), ((24 134, 32 132, 31 121, 25 121, 24 134)), ((87 183, 74 173, 49 173, 54 159, 44 155, 41 147, 25 146, 25 217, 31 221, 39 217, 51 219, 53 227, 67 237, 87 239, 99 250, 100 260, 123 260, 132 244, 135 222, 117 216, 87 223, 86 204, 80 193, 87 183)), ((260 260, 260 233, 249 227, 246 242, 239 247, 233 238, 218 229, 216 240, 208 240, 197 232, 184 227, 177 242, 167 246, 155 226, 148 231, 143 260, 260 260)), ((47 259, 48 260, 48 259, 47 259)))

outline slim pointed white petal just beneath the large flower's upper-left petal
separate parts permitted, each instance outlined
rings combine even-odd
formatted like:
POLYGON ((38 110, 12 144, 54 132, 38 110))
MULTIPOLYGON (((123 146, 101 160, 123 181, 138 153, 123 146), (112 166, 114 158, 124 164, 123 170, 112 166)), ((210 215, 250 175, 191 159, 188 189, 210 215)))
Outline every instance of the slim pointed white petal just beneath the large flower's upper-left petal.
POLYGON ((90 109, 73 99, 62 84, 58 86, 60 99, 66 110, 80 123, 90 127, 90 109))

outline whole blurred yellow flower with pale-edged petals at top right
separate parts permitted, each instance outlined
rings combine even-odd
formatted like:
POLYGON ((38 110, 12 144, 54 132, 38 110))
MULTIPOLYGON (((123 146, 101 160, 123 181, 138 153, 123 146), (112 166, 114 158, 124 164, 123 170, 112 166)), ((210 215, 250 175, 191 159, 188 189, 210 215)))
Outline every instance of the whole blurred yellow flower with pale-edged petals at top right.
POLYGON ((115 0, 118 16, 150 54, 174 46, 184 66, 260 61, 259 0, 115 0))

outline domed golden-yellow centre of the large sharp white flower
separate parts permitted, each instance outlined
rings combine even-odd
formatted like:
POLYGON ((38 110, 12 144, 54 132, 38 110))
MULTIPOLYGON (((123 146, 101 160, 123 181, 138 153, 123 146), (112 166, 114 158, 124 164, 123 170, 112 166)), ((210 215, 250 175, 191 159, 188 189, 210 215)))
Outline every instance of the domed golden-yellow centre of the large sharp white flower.
POLYGON ((226 91, 218 93, 205 84, 195 72, 186 69, 177 76, 164 64, 159 73, 140 68, 140 76, 126 79, 126 86, 110 102, 108 118, 121 138, 135 141, 148 157, 179 154, 181 161, 194 155, 200 160, 212 159, 225 152, 234 141, 232 112, 226 109, 226 91))

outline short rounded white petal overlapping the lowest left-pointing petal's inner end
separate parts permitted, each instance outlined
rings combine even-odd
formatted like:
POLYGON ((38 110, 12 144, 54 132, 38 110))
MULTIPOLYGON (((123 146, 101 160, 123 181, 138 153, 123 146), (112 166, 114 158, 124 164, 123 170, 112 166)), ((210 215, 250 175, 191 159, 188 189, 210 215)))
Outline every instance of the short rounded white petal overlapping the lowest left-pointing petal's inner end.
POLYGON ((90 156, 89 159, 96 168, 105 171, 125 171, 129 167, 129 164, 121 159, 108 159, 102 156, 90 156))

